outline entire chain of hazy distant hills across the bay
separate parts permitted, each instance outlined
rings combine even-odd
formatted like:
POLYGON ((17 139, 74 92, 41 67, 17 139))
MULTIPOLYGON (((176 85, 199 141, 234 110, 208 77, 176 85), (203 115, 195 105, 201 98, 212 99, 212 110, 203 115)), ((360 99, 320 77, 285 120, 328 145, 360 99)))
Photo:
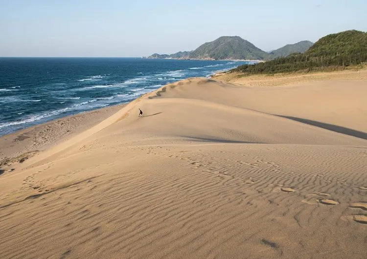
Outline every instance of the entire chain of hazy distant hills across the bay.
POLYGON ((295 52, 306 51, 313 43, 301 41, 288 44, 271 52, 256 47, 239 36, 223 36, 215 41, 204 43, 192 51, 180 51, 174 54, 154 53, 148 59, 199 59, 199 60, 271 60, 295 52))

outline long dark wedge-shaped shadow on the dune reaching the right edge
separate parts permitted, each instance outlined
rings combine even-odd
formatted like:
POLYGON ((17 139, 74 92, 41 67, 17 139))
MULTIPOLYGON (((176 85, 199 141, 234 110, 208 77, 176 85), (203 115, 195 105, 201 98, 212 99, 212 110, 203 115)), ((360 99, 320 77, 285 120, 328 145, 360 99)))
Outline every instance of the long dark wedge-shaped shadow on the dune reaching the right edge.
POLYGON ((283 118, 287 118, 287 119, 290 119, 290 120, 298 121, 298 122, 301 122, 301 123, 305 123, 305 124, 308 124, 308 125, 316 126, 316 127, 322 128, 322 129, 328 129, 328 130, 331 130, 331 131, 334 131, 334 132, 338 132, 338 133, 342 133, 342 134, 345 134, 345 135, 349 135, 349 136, 353 136, 353 137, 362 138, 362 139, 367 140, 367 133, 363 132, 363 131, 348 129, 348 128, 344 128, 344 127, 333 125, 333 124, 327 124, 327 123, 323 123, 323 122, 319 122, 319 121, 312 121, 312 120, 307 120, 307 119, 302 119, 302 118, 297 118, 297 117, 283 116, 283 115, 277 115, 277 114, 274 114, 274 115, 278 116, 278 117, 283 117, 283 118))

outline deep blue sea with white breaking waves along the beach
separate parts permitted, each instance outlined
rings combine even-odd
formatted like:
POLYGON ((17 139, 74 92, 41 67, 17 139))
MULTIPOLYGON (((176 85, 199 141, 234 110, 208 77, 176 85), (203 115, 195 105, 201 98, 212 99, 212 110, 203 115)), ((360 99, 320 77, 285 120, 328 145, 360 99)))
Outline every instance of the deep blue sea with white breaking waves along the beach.
POLYGON ((167 83, 208 77, 241 61, 0 58, 0 135, 133 101, 167 83))

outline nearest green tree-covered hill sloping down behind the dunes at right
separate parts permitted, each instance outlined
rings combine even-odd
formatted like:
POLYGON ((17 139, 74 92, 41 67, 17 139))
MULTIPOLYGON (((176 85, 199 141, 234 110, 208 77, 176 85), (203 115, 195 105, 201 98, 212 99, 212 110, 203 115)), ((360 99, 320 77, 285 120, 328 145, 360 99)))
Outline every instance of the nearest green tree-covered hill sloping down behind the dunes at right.
POLYGON ((294 53, 256 65, 241 65, 231 71, 246 74, 284 73, 344 69, 367 62, 367 33, 349 30, 329 34, 304 53, 294 53))

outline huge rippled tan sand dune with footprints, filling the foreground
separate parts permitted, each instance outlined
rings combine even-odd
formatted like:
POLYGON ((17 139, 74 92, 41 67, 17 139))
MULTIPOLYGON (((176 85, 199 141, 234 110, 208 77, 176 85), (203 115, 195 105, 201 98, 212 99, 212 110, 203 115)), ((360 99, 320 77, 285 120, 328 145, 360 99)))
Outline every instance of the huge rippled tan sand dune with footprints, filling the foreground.
POLYGON ((0 258, 366 258, 355 73, 184 80, 14 163, 0 176, 0 258))

